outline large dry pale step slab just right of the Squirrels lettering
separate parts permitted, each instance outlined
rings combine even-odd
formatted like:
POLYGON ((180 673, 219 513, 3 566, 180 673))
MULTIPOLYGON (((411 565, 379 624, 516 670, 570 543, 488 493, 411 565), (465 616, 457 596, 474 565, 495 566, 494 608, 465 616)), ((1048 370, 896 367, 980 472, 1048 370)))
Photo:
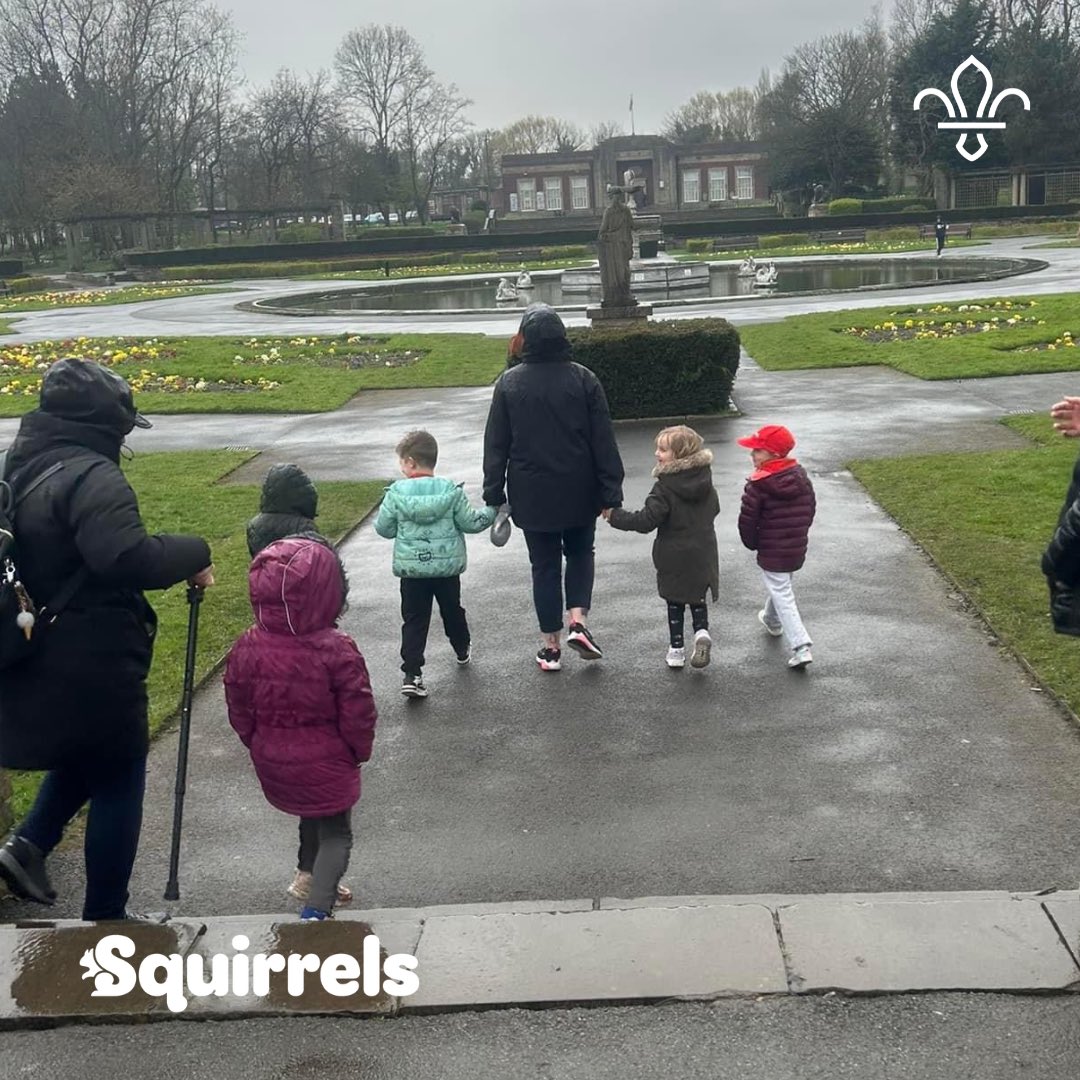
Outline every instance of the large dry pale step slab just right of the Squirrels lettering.
POLYGON ((429 919, 403 1010, 787 990, 765 907, 429 919))

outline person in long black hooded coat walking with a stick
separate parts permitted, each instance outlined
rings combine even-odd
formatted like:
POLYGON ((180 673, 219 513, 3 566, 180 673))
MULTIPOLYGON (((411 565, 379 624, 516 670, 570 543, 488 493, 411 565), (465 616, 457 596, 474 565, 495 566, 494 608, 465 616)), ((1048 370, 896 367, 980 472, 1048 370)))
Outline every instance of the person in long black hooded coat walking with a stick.
POLYGON ((213 584, 199 537, 149 536, 120 448, 135 427, 131 388, 114 372, 62 360, 45 373, 5 476, 21 486, 63 468, 19 504, 19 570, 39 608, 80 584, 54 622, 35 627, 35 652, 0 674, 0 766, 48 770, 33 808, 0 849, 0 876, 52 903, 44 860, 90 804, 84 919, 127 917, 149 746, 146 677, 157 618, 144 589, 213 584))

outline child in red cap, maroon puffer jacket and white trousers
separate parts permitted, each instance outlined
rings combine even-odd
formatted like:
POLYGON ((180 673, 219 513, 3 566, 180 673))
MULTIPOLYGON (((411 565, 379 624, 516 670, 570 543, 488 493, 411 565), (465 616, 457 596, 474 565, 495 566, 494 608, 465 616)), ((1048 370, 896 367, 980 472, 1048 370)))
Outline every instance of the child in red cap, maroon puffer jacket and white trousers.
POLYGON ((807 557, 816 509, 813 485, 802 465, 788 457, 795 438, 786 428, 766 424, 738 442, 750 449, 754 462, 743 490, 739 536, 746 548, 757 552, 768 591, 757 618, 773 637, 783 634, 787 638, 792 650, 787 666, 806 667, 813 660, 813 643, 795 604, 792 575, 807 557))

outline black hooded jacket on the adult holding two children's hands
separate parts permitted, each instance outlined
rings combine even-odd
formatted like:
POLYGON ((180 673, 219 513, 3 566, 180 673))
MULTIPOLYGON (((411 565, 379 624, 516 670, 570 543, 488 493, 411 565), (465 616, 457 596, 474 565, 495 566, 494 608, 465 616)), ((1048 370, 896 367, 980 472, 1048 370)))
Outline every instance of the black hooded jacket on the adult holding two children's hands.
POLYGON ((495 384, 484 432, 484 502, 510 501, 522 529, 556 532, 622 505, 622 458, 599 380, 570 360, 546 306, 522 320, 522 363, 495 384))

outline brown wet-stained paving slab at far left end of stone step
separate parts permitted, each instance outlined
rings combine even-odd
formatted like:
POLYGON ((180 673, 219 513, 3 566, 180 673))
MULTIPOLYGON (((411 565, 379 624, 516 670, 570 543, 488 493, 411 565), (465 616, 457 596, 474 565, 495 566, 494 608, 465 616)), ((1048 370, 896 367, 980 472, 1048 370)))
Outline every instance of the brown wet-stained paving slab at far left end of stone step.
POLYGON ((203 930, 201 922, 188 920, 165 926, 26 921, 0 927, 0 1028, 167 1016, 164 1000, 138 987, 123 997, 92 997, 95 972, 87 953, 106 935, 123 934, 135 946, 125 959, 137 968, 151 953, 187 956, 203 930))

